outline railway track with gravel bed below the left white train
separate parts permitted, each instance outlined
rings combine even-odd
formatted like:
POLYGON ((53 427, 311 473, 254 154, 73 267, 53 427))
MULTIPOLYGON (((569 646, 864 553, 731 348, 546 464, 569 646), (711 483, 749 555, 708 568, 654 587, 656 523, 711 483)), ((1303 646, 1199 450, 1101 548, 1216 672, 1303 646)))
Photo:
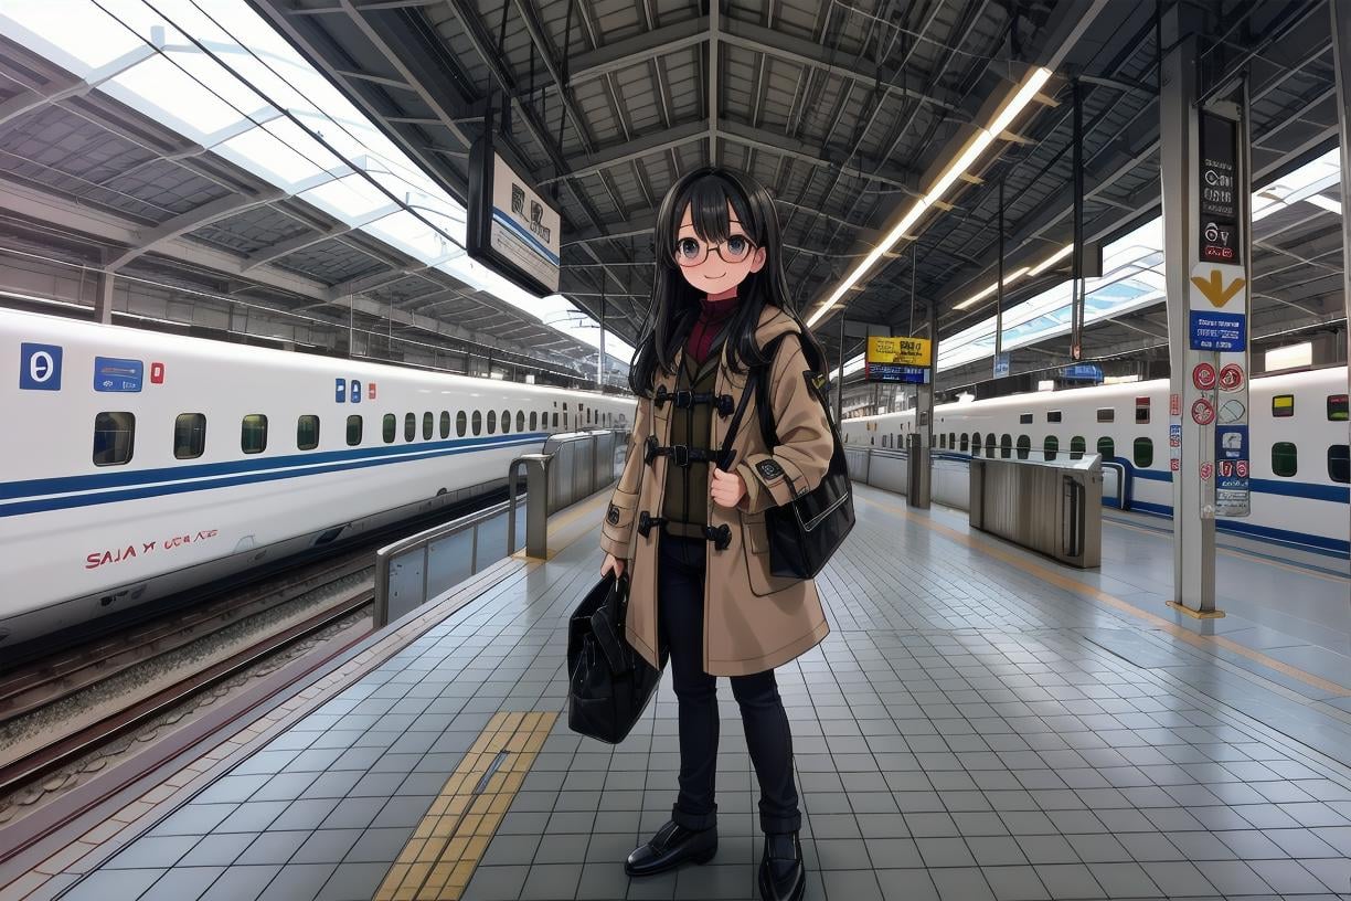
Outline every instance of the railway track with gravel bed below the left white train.
POLYGON ((265 669, 288 648, 295 654, 296 646, 335 624, 345 625, 342 640, 324 642, 304 658, 319 666, 342 652, 369 634, 366 624, 355 634, 350 627, 374 600, 374 550, 492 500, 405 520, 349 550, 254 582, 204 589, 157 619, 32 657, 0 674, 0 825, 122 754, 112 750, 104 761, 100 748, 166 728, 159 724, 172 723, 196 696, 231 690, 239 674, 265 669))

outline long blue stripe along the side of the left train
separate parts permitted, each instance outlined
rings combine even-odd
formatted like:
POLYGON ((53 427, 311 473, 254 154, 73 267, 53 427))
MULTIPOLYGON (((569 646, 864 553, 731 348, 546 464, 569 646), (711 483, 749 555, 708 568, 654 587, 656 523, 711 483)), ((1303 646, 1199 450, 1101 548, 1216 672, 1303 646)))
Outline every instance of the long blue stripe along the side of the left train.
MULTIPOLYGON (((516 438, 509 440, 515 444, 524 439, 542 440, 547 436, 547 432, 519 432, 516 438)), ((267 469, 285 469, 288 466, 313 466, 316 463, 338 463, 378 457, 426 455, 434 451, 450 448, 496 447, 503 440, 505 439, 453 438, 450 440, 430 442, 423 444, 389 444, 388 447, 358 447, 355 450, 319 451, 316 454, 288 454, 286 457, 250 457, 247 459, 236 459, 226 463, 186 463, 184 466, 168 466, 162 469, 118 469, 91 475, 32 478, 24 482, 0 484, 0 500, 38 497, 42 494, 68 494, 72 492, 96 490, 100 488, 151 485, 154 482, 178 482, 188 478, 234 475, 238 473, 253 473, 267 469)))

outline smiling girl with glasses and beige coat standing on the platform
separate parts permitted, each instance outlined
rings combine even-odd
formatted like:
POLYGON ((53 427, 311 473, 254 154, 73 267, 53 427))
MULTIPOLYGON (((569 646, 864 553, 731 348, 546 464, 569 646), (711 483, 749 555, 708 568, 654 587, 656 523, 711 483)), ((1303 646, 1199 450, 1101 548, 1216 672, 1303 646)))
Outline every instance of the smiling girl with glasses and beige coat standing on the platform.
POLYGON ((811 580, 771 574, 765 511, 820 482, 834 438, 804 346, 811 359, 824 354, 792 308, 765 188, 720 168, 671 186, 657 217, 648 323, 630 370, 639 405, 605 513, 601 573, 628 567, 626 636, 654 666, 670 658, 681 765, 670 821, 624 869, 642 877, 716 854, 716 677, 728 675, 761 786, 761 896, 796 901, 801 813, 774 667, 830 627, 811 580), (753 366, 769 380, 780 443, 766 447, 753 394, 731 458, 719 461, 753 366))

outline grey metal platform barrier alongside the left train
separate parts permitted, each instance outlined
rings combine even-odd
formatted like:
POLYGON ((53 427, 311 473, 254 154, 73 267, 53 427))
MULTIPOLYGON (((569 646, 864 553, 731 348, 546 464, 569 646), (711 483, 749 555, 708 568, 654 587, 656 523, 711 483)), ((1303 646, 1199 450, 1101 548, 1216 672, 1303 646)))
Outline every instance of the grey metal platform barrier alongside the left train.
POLYGON ((507 467, 508 498, 376 551, 376 628, 444 594, 526 543, 547 555, 549 516, 615 481, 627 432, 592 430, 554 435, 543 454, 524 454, 507 467), (516 478, 526 467, 526 492, 516 478), (526 517, 516 508, 526 505, 526 517))

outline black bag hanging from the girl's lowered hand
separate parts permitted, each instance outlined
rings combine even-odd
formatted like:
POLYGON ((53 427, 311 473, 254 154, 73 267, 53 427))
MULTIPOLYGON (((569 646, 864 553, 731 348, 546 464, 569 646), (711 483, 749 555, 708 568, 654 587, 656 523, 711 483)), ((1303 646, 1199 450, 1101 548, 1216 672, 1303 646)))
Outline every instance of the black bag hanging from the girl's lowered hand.
POLYGON ((628 577, 608 573, 567 621, 567 728, 609 744, 628 736, 662 678, 624 638, 627 608, 628 577))

